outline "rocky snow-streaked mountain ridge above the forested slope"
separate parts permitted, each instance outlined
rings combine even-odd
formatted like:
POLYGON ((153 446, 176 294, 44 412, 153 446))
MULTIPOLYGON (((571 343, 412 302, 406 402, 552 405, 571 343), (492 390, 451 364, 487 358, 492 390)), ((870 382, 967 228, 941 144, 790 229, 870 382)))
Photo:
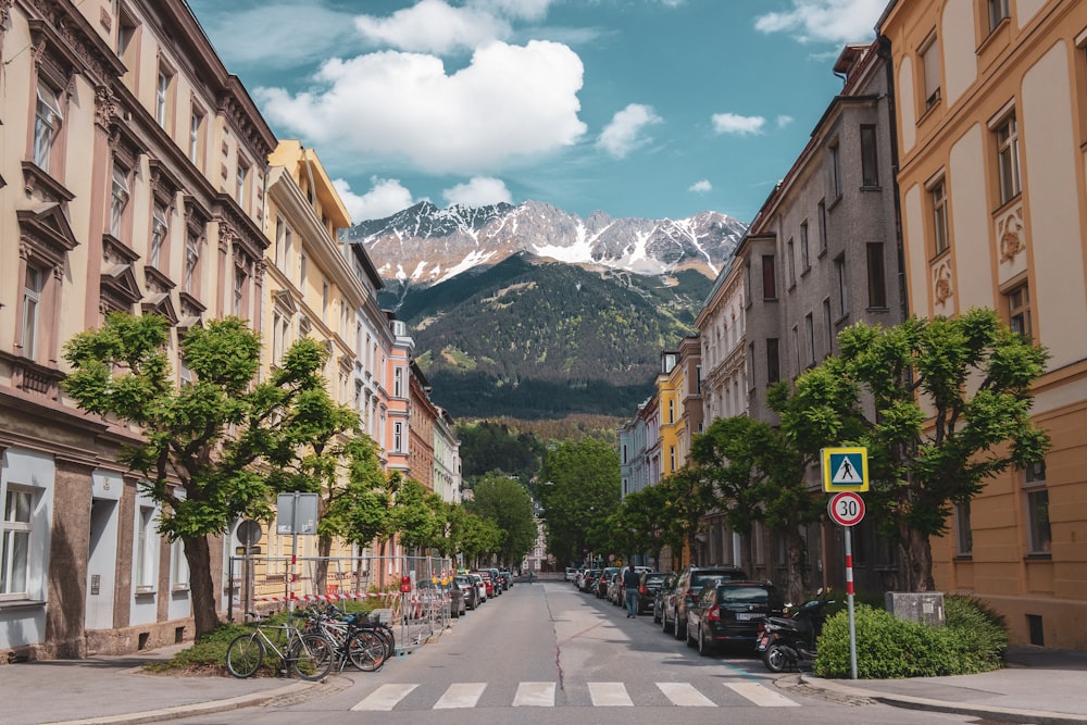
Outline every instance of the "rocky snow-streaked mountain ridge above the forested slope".
POLYGON ((362 222, 347 240, 365 245, 386 279, 428 286, 517 253, 640 275, 697 270, 715 277, 746 226, 725 214, 683 220, 586 218, 526 201, 473 209, 438 209, 424 201, 387 218, 362 222))

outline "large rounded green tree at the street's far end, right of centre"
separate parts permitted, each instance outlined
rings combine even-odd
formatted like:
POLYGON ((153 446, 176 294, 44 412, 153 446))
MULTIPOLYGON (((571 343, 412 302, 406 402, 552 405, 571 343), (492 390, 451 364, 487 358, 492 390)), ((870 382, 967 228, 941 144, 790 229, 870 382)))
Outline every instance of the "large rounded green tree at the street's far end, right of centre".
POLYGON ((599 552, 599 522, 620 504, 619 453, 591 438, 561 442, 544 457, 540 479, 549 552, 560 562, 599 552))

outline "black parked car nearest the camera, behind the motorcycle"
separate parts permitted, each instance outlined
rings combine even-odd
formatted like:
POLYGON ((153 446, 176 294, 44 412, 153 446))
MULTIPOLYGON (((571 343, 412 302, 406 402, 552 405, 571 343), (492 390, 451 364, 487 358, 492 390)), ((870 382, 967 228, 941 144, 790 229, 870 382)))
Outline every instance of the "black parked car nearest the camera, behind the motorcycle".
POLYGON ((702 654, 719 645, 753 650, 763 621, 784 611, 785 598, 770 582, 708 584, 687 608, 687 646, 702 654))

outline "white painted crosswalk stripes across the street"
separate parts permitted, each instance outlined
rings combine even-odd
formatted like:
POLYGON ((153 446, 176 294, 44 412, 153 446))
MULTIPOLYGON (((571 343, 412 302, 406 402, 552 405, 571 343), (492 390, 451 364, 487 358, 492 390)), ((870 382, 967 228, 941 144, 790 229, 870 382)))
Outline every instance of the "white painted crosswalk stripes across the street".
MULTIPOLYGON (((624 683, 587 683, 589 702, 597 708, 623 708, 635 707, 635 700, 630 697, 624 683)), ((657 689, 666 699, 665 702, 657 704, 672 704, 677 708, 717 708, 726 703, 730 695, 738 695, 742 698, 744 704, 754 704, 760 708, 794 708, 799 703, 794 702, 784 695, 775 691, 773 687, 767 687, 755 682, 726 682, 721 690, 713 688, 713 691, 705 692, 695 687, 690 683, 655 683, 657 689), (716 700, 725 702, 719 703, 716 700)), ((389 683, 379 686, 376 690, 360 700, 352 711, 389 712, 397 705, 403 703, 402 709, 424 709, 432 710, 458 710, 470 709, 478 705, 480 698, 487 690, 487 683, 453 683, 441 696, 432 703, 405 702, 416 688, 418 683, 389 683)), ((518 683, 513 700, 509 702, 513 708, 553 708, 557 702, 557 683, 518 683)), ((641 698, 644 704, 649 704, 652 698, 641 698)), ((572 703, 566 703, 572 704, 572 703)))

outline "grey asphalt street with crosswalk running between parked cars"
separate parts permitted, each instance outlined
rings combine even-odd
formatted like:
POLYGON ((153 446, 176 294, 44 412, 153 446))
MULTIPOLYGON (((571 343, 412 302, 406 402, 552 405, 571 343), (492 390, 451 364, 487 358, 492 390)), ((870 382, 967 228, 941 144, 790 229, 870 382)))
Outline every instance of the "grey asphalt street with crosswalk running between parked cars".
POLYGON ((301 701, 175 721, 192 725, 486 722, 592 724, 969 723, 783 689, 753 655, 701 657, 649 615, 564 583, 517 584, 379 672, 345 671, 301 701), (727 709, 727 712, 723 710, 727 709))

